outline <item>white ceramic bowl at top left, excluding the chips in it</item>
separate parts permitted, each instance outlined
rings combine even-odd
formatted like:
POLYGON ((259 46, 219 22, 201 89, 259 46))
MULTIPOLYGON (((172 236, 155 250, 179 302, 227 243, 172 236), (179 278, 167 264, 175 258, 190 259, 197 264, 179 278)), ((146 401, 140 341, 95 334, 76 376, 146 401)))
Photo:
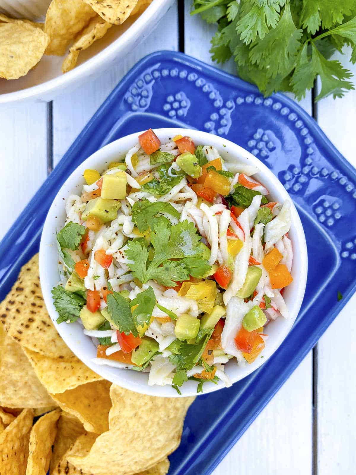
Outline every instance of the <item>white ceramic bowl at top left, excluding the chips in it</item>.
POLYGON ((45 55, 26 76, 11 81, 0 78, 0 104, 28 99, 51 101, 103 74, 150 35, 173 2, 153 0, 140 16, 110 28, 103 38, 81 52, 75 68, 66 74, 61 71, 64 57, 45 55))

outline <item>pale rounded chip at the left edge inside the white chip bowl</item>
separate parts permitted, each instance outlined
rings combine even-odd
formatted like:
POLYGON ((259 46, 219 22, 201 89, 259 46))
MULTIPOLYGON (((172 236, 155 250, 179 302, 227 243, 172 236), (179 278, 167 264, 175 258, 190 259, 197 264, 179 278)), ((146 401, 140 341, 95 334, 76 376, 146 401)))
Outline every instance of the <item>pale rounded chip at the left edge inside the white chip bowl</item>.
POLYGON ((0 77, 18 79, 37 65, 49 43, 40 28, 23 21, 0 22, 0 77))

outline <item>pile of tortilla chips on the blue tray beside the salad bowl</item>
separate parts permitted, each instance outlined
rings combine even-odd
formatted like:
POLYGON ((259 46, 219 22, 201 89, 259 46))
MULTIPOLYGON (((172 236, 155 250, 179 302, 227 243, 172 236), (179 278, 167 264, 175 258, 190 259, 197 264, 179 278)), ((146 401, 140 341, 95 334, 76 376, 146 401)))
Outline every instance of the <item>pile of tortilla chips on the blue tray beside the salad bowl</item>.
POLYGON ((87 368, 47 314, 38 255, 22 267, 0 304, 0 475, 165 475, 193 400, 137 394, 87 368))

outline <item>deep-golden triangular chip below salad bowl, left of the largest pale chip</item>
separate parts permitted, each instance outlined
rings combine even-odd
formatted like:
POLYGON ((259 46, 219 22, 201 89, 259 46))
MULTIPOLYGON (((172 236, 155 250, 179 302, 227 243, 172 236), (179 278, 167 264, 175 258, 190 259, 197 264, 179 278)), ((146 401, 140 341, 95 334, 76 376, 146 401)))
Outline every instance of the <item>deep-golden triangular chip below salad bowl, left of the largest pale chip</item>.
POLYGON ((88 432, 102 434, 109 430, 110 386, 110 381, 94 381, 51 396, 64 411, 83 422, 88 432))

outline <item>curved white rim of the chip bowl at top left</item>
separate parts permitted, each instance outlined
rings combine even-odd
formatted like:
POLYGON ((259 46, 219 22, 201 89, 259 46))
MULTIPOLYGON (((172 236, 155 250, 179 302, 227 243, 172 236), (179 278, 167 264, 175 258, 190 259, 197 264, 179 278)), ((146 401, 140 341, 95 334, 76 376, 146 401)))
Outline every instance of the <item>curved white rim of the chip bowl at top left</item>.
MULTIPOLYGON (((132 25, 122 33, 122 35, 113 41, 110 45, 105 47, 102 51, 86 60, 84 63, 76 66, 71 71, 61 74, 53 79, 30 87, 25 87, 19 91, 13 91, 5 94, 0 94, 0 104, 8 104, 13 102, 24 101, 27 99, 41 100, 42 95, 55 92, 56 90, 69 87, 75 81, 80 80, 84 76, 88 76, 94 71, 98 71, 103 64, 109 62, 110 59, 115 59, 116 53, 128 47, 130 41, 137 36, 140 37, 141 32, 147 27, 148 21, 154 19, 159 14, 161 9, 167 6, 167 12, 174 0, 153 0, 150 5, 144 10, 141 15, 135 19, 132 25)), ((56 95, 56 94, 55 94, 56 95)), ((54 95, 54 97, 55 97, 54 95)), ((47 102, 46 99, 44 102, 47 102)))

